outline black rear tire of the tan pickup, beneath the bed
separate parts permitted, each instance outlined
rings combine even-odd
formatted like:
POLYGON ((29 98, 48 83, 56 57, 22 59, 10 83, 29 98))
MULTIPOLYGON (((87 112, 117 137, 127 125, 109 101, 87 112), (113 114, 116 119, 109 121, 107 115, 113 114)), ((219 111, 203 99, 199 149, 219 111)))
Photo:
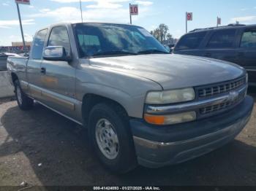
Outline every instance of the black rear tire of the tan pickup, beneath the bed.
POLYGON ((15 86, 15 97, 18 103, 18 106, 21 110, 29 110, 34 106, 34 100, 29 98, 20 87, 20 82, 16 80, 14 82, 15 86), (20 91, 20 99, 18 98, 18 91, 20 91))

